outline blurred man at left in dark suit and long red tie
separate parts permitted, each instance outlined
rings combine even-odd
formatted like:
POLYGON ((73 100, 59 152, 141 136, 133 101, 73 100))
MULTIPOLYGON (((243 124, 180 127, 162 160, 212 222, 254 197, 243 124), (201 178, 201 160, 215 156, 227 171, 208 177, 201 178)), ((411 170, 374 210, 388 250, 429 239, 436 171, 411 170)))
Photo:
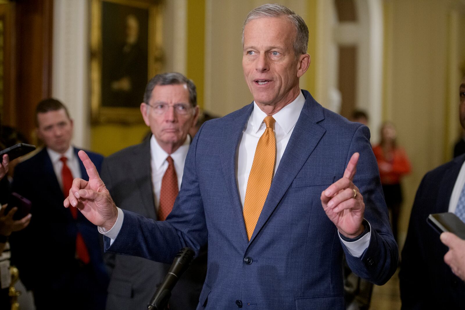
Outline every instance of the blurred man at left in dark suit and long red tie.
MULTIPOLYGON (((73 177, 88 179, 71 145, 73 120, 56 99, 39 102, 36 132, 45 147, 14 170, 13 191, 32 202, 31 224, 12 235, 13 264, 40 309, 105 309, 108 274, 97 227, 63 211, 73 177), (79 296, 80 293, 87 294, 79 296)), ((103 157, 88 152, 100 171, 103 157)))

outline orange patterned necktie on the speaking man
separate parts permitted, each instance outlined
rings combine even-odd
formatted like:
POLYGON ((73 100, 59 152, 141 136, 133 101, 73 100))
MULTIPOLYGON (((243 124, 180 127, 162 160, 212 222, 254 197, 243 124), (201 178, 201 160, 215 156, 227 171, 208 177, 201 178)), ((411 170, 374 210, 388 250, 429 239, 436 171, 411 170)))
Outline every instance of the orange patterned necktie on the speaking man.
POLYGON ((263 121, 266 129, 255 149, 244 200, 244 222, 249 240, 270 190, 276 159, 276 138, 273 132, 275 120, 272 116, 267 116, 263 121))

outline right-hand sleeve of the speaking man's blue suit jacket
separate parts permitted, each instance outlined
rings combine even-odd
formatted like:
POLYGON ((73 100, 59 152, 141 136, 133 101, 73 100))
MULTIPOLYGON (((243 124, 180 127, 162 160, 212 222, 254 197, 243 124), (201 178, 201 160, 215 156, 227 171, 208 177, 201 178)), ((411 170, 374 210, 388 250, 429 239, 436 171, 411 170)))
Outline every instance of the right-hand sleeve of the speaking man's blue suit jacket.
POLYGON ((365 219, 371 225, 368 248, 361 257, 353 257, 343 245, 347 264, 359 277, 378 285, 385 284, 397 269, 398 246, 392 236, 389 215, 384 200, 376 158, 370 145, 368 127, 361 125, 355 132, 347 153, 346 165, 352 154, 360 153, 353 183, 359 187, 365 203, 365 219))

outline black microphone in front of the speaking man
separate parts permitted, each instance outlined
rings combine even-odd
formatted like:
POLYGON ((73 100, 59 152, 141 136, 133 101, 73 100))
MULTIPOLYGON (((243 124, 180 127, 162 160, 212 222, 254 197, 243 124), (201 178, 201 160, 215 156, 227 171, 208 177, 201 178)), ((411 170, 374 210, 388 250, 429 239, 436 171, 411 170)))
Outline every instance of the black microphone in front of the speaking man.
POLYGON ((152 300, 147 305, 149 310, 165 310, 168 305, 168 300, 171 297, 171 290, 178 282, 178 279, 189 268, 194 258, 194 251, 188 247, 182 248, 176 257, 174 257, 173 264, 166 274, 163 282, 153 294, 152 300))

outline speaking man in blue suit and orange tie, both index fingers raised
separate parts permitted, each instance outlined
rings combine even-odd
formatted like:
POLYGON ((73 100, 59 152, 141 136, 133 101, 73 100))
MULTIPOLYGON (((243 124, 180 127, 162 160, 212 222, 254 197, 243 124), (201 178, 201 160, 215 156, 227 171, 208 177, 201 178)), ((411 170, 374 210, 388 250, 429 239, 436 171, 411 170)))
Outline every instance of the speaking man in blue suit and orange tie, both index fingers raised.
POLYGON ((92 176, 73 181, 64 205, 100 226, 107 251, 169 263, 208 243, 197 309, 345 309, 343 251, 376 284, 397 268, 368 128, 300 90, 310 56, 299 15, 266 4, 244 24, 254 102, 202 125, 167 220, 117 208, 85 152, 92 176))

